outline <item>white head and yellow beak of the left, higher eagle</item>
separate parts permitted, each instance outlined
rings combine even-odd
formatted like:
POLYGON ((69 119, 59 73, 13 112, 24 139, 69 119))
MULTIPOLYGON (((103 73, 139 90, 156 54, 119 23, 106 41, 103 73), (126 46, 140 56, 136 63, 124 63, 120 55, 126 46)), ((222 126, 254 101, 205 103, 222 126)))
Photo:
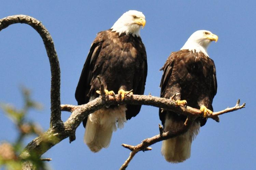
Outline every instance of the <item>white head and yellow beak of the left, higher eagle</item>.
POLYGON ((112 31, 132 34, 133 36, 140 36, 140 28, 146 24, 145 16, 142 12, 130 10, 124 13, 111 27, 112 31))

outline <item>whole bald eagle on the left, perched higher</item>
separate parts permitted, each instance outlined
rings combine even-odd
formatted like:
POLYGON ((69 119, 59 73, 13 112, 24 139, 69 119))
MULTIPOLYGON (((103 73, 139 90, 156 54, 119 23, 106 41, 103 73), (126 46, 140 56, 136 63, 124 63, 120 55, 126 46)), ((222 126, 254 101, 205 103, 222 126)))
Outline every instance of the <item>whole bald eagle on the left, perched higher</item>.
MULTIPOLYGON (((99 96, 99 76, 106 94, 125 94, 133 89, 143 95, 147 77, 147 56, 140 37, 145 16, 138 11, 124 13, 109 30, 99 32, 90 47, 75 98, 79 105, 99 96)), ((84 142, 92 152, 107 148, 112 132, 140 112, 140 105, 114 105, 99 109, 83 120, 84 142)))

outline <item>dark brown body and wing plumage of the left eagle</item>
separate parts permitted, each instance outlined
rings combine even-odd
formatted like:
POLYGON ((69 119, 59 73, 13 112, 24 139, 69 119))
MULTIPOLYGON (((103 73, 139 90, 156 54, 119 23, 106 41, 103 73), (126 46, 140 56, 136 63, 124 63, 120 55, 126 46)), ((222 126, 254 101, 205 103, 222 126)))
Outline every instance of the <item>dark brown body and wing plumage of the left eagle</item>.
MULTIPOLYGON (((133 89, 133 94, 142 95, 147 76, 147 58, 140 37, 102 31, 97 34, 86 58, 75 98, 79 105, 88 103, 90 98, 98 97, 96 90, 100 84, 116 94, 120 88, 133 89)), ((140 112, 140 105, 127 105, 126 119, 140 112)), ((87 118, 83 121, 86 125, 87 118)))

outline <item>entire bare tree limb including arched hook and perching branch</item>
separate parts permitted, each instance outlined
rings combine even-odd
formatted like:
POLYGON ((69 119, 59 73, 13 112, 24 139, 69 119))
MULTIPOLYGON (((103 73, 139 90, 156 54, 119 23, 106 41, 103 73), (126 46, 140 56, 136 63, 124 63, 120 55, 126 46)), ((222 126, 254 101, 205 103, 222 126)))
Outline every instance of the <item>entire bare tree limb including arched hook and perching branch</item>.
MULTIPOLYGON (((56 50, 54 48, 54 43, 51 35, 43 26, 43 24, 35 18, 26 15, 14 15, 9 16, 3 19, 0 19, 0 31, 4 28, 7 28, 14 23, 26 23, 34 28, 42 37, 45 49, 49 58, 51 65, 51 121, 49 129, 33 139, 25 148, 24 152, 20 155, 21 158, 26 158, 30 155, 31 152, 37 153, 38 156, 41 156, 51 147, 59 143, 61 140, 70 137, 70 142, 75 140, 75 131, 80 123, 86 118, 90 113, 95 112, 96 110, 106 106, 106 105, 118 105, 118 104, 133 104, 133 105, 150 105, 159 107, 165 110, 173 111, 177 114, 183 114, 187 116, 187 120, 184 123, 184 126, 177 131, 168 131, 163 132, 161 126, 159 126, 160 133, 151 138, 144 139, 137 146, 130 146, 123 144, 125 148, 131 150, 129 158, 123 164, 120 169, 125 169, 130 163, 131 159, 139 151, 151 150, 149 146, 153 145, 156 142, 166 140, 178 135, 185 133, 194 120, 202 116, 202 112, 199 109, 192 107, 183 107, 176 105, 176 102, 172 99, 159 98, 154 96, 145 96, 145 95, 127 95, 124 100, 119 100, 118 95, 105 96, 104 86, 101 85, 101 96, 95 100, 79 106, 74 105, 60 105, 60 68, 59 61, 57 57, 56 50), (61 121, 61 111, 71 112, 70 117, 65 123, 61 121)), ((212 115, 208 115, 208 118, 212 118, 218 121, 218 115, 236 111, 245 107, 245 103, 239 106, 237 102, 235 107, 227 108, 220 112, 214 112, 212 115)), ((24 169, 33 169, 32 165, 25 164, 24 169)))

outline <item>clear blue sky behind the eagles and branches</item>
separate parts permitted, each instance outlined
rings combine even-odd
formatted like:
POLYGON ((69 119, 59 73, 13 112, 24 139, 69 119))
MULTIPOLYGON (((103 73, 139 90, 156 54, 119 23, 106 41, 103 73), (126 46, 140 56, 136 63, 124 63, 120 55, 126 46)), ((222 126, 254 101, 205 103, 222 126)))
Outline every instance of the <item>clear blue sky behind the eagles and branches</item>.
MULTIPOLYGON (((112 27, 128 10, 146 16, 141 37, 147 51, 148 76, 145 94, 159 96, 159 82, 170 52, 179 50, 197 30, 219 36, 208 54, 217 70, 215 111, 232 107, 238 98, 246 108, 208 120, 192 143, 191 157, 170 164, 160 153, 161 142, 152 151, 138 153, 127 169, 253 169, 255 142, 255 1, 1 1, 0 18, 25 14, 42 21, 51 33, 61 69, 61 103, 76 104, 74 92, 89 47, 96 33, 112 27)), ((31 111, 29 119, 46 130, 50 117, 50 67, 41 37, 30 26, 15 24, 0 32, 0 102, 22 107, 19 86, 31 89, 43 111, 31 111)), ((70 113, 63 112, 65 121, 70 113)), ((129 155, 122 143, 137 145, 159 133, 158 108, 143 106, 140 114, 112 136, 110 147, 91 153, 83 143, 84 128, 76 140, 54 146, 43 157, 51 157, 52 169, 118 169, 129 155)), ((13 141, 15 127, 0 111, 0 141, 13 141)), ((28 139, 28 142, 30 139, 28 139)))

